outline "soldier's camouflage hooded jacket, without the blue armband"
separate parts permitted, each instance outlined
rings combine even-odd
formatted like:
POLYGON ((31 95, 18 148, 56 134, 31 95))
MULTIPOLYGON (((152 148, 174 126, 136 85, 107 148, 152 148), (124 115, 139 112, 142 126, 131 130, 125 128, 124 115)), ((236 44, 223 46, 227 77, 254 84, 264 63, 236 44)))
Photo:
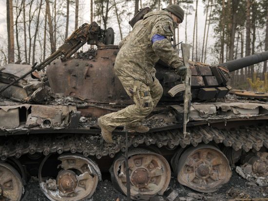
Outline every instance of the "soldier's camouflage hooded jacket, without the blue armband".
POLYGON ((159 59, 174 69, 181 66, 182 62, 171 45, 174 26, 176 24, 167 11, 146 14, 119 43, 120 51, 115 60, 115 74, 150 85, 156 72, 154 65, 159 59), (161 35, 165 39, 152 43, 154 35, 161 35))

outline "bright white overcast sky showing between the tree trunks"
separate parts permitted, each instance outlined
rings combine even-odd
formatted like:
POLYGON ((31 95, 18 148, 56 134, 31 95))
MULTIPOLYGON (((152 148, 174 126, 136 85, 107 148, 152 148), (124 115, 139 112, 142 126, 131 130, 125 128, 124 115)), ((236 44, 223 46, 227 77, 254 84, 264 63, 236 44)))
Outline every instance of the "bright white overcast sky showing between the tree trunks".
MULTIPOLYGON (((89 23, 90 21, 90 5, 89 5, 89 0, 80 0, 80 6, 83 7, 83 9, 80 9, 80 21, 83 22, 87 22, 89 23)), ((164 6, 164 5, 163 5, 164 6)), ((195 8, 195 4, 193 4, 194 8, 195 8)), ((204 34, 204 25, 205 25, 205 18, 206 15, 204 14, 204 7, 205 5, 202 3, 202 1, 198 2, 198 44, 202 44, 203 42, 203 34, 204 34)), ((0 42, 2 43, 2 46, 4 46, 3 43, 6 43, 6 39, 7 39, 7 28, 6 28, 6 0, 0 0, 0 42)), ((71 10, 74 9, 71 8, 71 10)), ((125 37, 128 33, 128 21, 129 19, 126 19, 123 23, 123 36, 125 37)), ((82 22, 81 22, 82 24, 82 22)), ((185 42, 185 20, 183 21, 182 24, 179 25, 179 35, 180 41, 185 42)), ((194 25, 194 12, 192 13, 192 15, 188 16, 187 19, 187 41, 188 43, 192 43, 192 35, 193 35, 193 25, 194 25)), ((118 44, 118 42, 120 41, 120 34, 117 28, 117 23, 116 23, 116 19, 111 19, 109 21, 108 26, 112 26, 115 30, 115 44, 118 44)), ((70 16, 70 33, 73 31, 72 29, 74 28, 74 12, 72 12, 71 16, 70 16)), ((213 27, 210 27, 210 34, 209 34, 209 39, 208 39, 208 43, 209 45, 213 45, 214 43, 214 38, 213 36, 213 27)), ((213 61, 213 58, 210 56, 209 58, 209 62, 213 61)))

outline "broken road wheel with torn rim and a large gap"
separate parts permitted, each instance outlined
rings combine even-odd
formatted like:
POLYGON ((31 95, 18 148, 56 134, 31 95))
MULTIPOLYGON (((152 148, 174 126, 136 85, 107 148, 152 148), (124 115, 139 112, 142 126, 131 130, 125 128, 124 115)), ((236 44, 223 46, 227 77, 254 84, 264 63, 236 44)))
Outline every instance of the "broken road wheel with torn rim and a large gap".
POLYGON ((65 154, 58 157, 61 170, 56 179, 42 179, 42 166, 39 167, 39 184, 42 192, 51 201, 79 201, 90 198, 101 179, 97 164, 84 156, 65 154))

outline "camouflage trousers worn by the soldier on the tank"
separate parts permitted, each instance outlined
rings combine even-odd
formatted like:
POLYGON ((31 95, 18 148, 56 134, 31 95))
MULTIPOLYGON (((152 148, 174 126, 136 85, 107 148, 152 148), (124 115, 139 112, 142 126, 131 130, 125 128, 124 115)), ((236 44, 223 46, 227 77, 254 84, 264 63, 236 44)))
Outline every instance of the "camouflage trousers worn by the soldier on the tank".
POLYGON ((163 94, 163 88, 156 78, 150 86, 139 80, 129 80, 129 77, 118 76, 118 78, 135 104, 100 117, 103 126, 111 132, 117 126, 140 125, 141 121, 152 112, 163 94))

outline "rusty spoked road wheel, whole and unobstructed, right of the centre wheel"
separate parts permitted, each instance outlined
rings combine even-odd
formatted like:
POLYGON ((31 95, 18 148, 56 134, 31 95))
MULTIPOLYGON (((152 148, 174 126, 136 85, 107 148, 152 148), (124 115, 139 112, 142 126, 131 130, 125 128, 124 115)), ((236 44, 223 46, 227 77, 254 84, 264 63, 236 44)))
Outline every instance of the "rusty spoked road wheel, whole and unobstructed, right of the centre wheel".
POLYGON ((177 162, 176 170, 179 183, 204 193, 216 191, 231 177, 228 159, 211 145, 186 149, 177 162))

